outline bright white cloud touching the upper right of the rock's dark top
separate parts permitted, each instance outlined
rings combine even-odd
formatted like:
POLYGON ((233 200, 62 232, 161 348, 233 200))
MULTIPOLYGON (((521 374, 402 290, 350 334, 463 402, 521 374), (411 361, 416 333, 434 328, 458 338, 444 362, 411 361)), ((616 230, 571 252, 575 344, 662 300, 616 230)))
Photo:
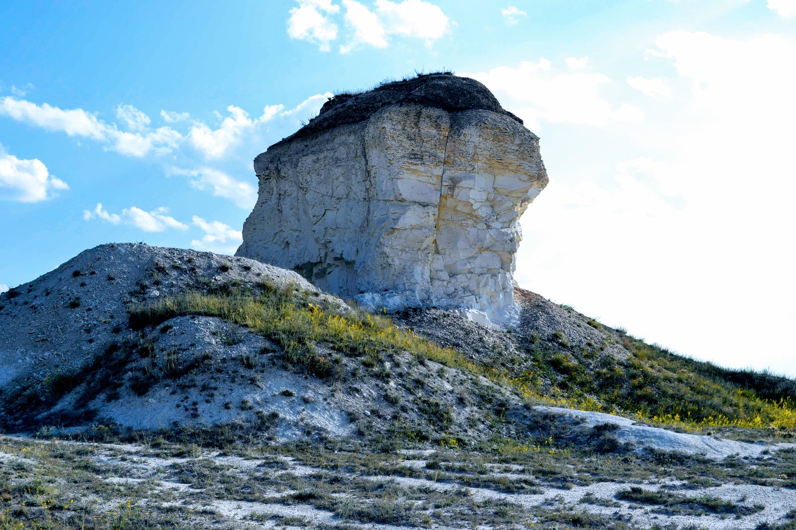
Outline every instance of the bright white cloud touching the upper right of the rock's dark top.
POLYGON ((540 127, 540 120, 607 127, 613 122, 638 121, 638 107, 623 103, 618 107, 600 95, 611 78, 602 73, 553 70, 547 59, 521 62, 517 68, 501 66, 489 72, 462 74, 486 84, 529 128, 540 127))

